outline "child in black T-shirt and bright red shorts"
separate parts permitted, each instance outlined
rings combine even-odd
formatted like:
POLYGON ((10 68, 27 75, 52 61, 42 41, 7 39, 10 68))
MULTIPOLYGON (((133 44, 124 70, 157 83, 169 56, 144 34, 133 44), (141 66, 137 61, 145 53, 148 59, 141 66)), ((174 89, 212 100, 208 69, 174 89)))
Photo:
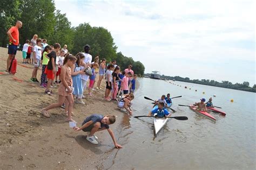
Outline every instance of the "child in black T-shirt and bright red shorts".
MULTIPOLYGON (((45 93, 48 95, 52 95, 52 90, 50 90, 51 83, 54 80, 54 75, 56 73, 55 63, 56 63, 56 53, 59 51, 60 45, 58 43, 55 43, 53 45, 53 50, 47 54, 49 57, 49 62, 47 65, 47 68, 45 69, 45 74, 47 75, 47 86, 45 89, 45 93)), ((64 102, 63 102, 64 103, 64 102)))

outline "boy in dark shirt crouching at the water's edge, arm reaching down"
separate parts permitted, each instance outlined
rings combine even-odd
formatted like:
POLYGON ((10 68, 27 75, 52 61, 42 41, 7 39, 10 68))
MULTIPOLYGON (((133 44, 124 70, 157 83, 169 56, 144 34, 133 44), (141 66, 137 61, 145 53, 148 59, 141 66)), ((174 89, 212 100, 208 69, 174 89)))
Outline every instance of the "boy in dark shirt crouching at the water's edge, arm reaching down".
POLYGON ((92 144, 96 145, 98 144, 98 137, 95 136, 95 132, 106 129, 109 132, 111 138, 113 139, 114 146, 116 146, 116 148, 123 148, 121 145, 117 144, 117 141, 114 138, 114 133, 109 128, 109 125, 113 124, 114 122, 116 122, 115 116, 103 116, 99 114, 93 114, 89 117, 86 117, 80 128, 74 127, 73 129, 75 131, 83 130, 84 132, 90 132, 90 134, 87 135, 86 139, 92 144))

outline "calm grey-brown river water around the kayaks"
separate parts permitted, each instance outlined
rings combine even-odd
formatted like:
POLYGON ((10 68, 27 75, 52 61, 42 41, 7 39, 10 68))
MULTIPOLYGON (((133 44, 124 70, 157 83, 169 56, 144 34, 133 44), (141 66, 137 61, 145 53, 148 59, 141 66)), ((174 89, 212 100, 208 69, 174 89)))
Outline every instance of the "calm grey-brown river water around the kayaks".
POLYGON ((118 141, 124 148, 113 150, 113 161, 106 161, 104 167, 255 169, 255 93, 146 78, 139 79, 139 83, 132 105, 133 116, 147 115, 151 110, 151 101, 144 96, 157 100, 162 94, 170 93, 171 97, 182 95, 172 100, 172 108, 177 111, 172 116, 187 116, 188 120, 169 119, 154 137, 152 118, 124 116, 118 141), (216 122, 197 115, 188 107, 178 106, 210 97, 213 104, 222 107, 227 114, 224 117, 211 112, 216 122))

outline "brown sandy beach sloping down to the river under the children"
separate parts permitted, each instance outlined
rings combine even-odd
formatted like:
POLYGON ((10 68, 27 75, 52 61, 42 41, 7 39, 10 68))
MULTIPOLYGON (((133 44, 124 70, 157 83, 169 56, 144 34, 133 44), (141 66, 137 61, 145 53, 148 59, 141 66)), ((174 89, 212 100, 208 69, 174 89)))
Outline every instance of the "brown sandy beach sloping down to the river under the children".
MULTIPOLYGON (((29 82, 32 65, 22 63, 22 52, 18 51, 17 73, 5 72, 8 49, 0 48, 0 167, 1 169, 104 169, 102 161, 110 159, 114 148, 107 131, 97 133, 100 143, 93 145, 86 140, 83 131, 74 132, 63 116, 64 109, 49 111, 50 118, 41 114, 46 105, 57 102, 57 88, 53 95, 44 93, 39 83, 29 82)), ((37 79, 41 76, 38 70, 37 79)), ((102 89, 105 82, 102 83, 102 89)), ((97 91, 93 97, 84 92, 85 105, 75 104, 73 117, 81 125, 91 114, 116 115, 117 122, 111 125, 117 142, 119 125, 128 116, 117 109, 117 103, 103 99, 104 90, 97 91)))

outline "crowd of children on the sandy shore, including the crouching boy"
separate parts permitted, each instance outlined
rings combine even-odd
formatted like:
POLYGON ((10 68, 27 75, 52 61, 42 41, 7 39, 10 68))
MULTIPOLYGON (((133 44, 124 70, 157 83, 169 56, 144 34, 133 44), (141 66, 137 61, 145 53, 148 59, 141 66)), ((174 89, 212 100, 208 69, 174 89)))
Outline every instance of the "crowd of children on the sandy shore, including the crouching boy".
MULTIPOLYGON (((72 119, 72 116, 74 116, 72 112, 73 104, 75 101, 76 103, 85 104, 82 98, 84 98, 83 94, 86 89, 87 80, 90 80, 88 90, 89 95, 92 96, 92 91, 95 90, 93 86, 97 73, 99 73, 99 81, 96 89, 100 89, 100 83, 105 75, 105 99, 107 101, 117 101, 117 95, 122 96, 124 94, 118 102, 118 108, 124 108, 132 115, 131 101, 134 98, 136 74, 133 75, 133 72, 120 73, 120 67, 116 65, 116 61, 112 61, 112 63, 106 66, 106 60, 103 59, 100 65, 98 65, 98 56, 91 63, 92 56, 89 54, 89 45, 85 46, 84 53, 78 53, 76 56, 66 53, 67 50, 60 49, 61 46, 58 43, 49 46, 45 43, 42 44, 42 39, 40 38, 36 39, 35 46, 29 40, 26 40, 23 46, 23 63, 31 63, 32 60, 34 66, 30 81, 39 82, 37 80, 37 72, 38 68, 42 66, 40 87, 45 88, 45 94, 52 95, 53 92, 50 88, 58 84, 58 102, 42 109, 42 114, 45 117, 50 117, 48 112, 50 109, 60 107, 65 103, 65 121, 75 122, 72 119), (32 59, 30 59, 31 53, 33 54, 32 59), (105 70, 105 68, 107 69, 105 70), (90 70, 90 74, 87 72, 87 69, 90 70), (132 76, 133 79, 131 80, 132 76), (111 91, 112 95, 110 98, 111 91)), ((80 128, 74 127, 73 129, 75 131, 83 130, 89 132, 86 139, 93 144, 98 144, 95 132, 106 129, 113 139, 114 146, 122 148, 122 146, 117 144, 114 134, 109 128, 109 124, 115 121, 115 116, 93 114, 84 120, 80 128)))

